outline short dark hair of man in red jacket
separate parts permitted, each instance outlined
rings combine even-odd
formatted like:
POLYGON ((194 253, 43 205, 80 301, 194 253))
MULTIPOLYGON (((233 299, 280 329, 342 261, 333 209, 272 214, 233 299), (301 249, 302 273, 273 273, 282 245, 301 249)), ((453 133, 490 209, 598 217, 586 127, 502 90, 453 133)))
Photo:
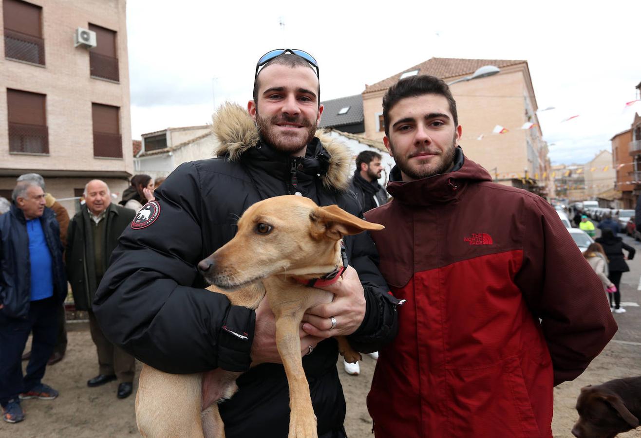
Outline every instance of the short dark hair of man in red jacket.
POLYGON ((449 112, 452 113, 454 126, 458 126, 458 113, 456 113, 456 101, 452 97, 449 86, 435 76, 422 74, 401 79, 387 89, 383 96, 383 121, 385 122, 385 135, 390 136, 390 110, 401 99, 406 97, 419 97, 424 94, 437 94, 445 97, 449 104, 449 112))

